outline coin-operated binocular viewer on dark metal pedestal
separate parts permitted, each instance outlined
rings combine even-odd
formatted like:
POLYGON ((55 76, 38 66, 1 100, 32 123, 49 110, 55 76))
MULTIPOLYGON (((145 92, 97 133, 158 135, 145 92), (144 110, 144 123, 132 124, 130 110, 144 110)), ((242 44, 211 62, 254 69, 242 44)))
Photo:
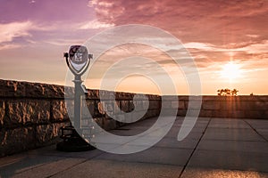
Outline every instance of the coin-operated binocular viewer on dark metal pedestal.
POLYGON ((63 151, 84 151, 95 149, 74 129, 81 127, 81 101, 82 96, 88 93, 85 85, 82 85, 81 76, 89 66, 92 54, 88 54, 87 47, 83 45, 71 45, 69 53, 64 53, 68 68, 74 75, 74 119, 70 126, 61 127, 61 138, 63 142, 57 144, 57 150, 63 151))

